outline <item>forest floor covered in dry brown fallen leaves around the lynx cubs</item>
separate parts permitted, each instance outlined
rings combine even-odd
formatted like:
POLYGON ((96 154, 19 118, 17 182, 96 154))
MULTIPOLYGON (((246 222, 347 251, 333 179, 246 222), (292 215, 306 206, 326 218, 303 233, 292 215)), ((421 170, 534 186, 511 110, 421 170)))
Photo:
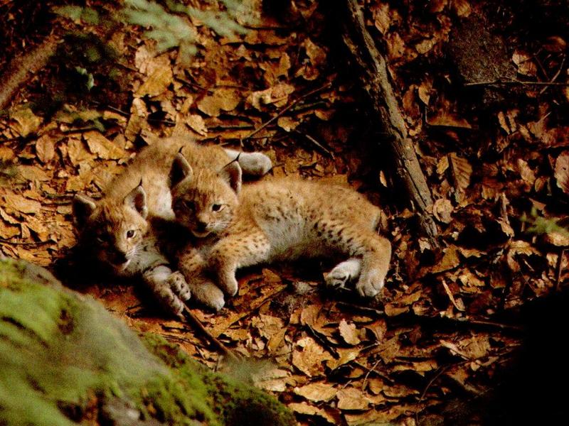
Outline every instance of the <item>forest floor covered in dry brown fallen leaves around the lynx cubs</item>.
MULTIPOLYGON (((381 300, 326 290, 330 263, 303 261, 241 273, 220 312, 190 301, 211 334, 252 360, 239 368, 302 425, 440 424, 448 401, 482 398, 521 345, 520 307, 569 278, 569 238, 552 222, 563 224, 568 207, 567 40, 555 25, 523 32, 514 12, 484 2, 395 3, 367 2, 366 24, 388 58, 441 249, 418 231, 339 16, 307 0, 265 7, 245 35, 193 21, 188 67, 141 28, 60 18, 51 31, 69 35, 58 53, 0 116, 1 253, 48 267, 65 259, 76 242, 73 196, 99 196, 160 137, 262 151, 272 175, 351 185, 381 206, 393 258, 381 300), (510 26, 492 33, 490 18, 510 26), (493 40, 486 56, 465 42, 474 35, 493 40)), ((71 286, 224 368, 140 285, 85 277, 71 286)))

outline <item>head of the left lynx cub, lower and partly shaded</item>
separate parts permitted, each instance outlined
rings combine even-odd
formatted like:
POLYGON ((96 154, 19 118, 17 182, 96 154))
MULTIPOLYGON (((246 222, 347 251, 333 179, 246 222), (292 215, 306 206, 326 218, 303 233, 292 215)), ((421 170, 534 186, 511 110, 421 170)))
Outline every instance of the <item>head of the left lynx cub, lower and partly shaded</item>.
POLYGON ((147 233, 146 193, 142 185, 123 200, 95 202, 86 195, 75 195, 73 216, 80 238, 95 252, 99 261, 116 271, 124 271, 139 250, 147 233))

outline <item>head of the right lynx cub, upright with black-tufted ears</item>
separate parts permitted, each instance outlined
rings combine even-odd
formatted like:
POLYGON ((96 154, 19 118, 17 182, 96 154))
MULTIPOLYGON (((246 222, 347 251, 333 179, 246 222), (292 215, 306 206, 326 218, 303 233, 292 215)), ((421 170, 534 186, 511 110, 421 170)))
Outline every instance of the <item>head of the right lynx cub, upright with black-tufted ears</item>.
POLYGON ((179 153, 172 163, 170 187, 176 222, 198 238, 220 234, 238 205, 241 168, 232 161, 221 170, 193 170, 179 153))

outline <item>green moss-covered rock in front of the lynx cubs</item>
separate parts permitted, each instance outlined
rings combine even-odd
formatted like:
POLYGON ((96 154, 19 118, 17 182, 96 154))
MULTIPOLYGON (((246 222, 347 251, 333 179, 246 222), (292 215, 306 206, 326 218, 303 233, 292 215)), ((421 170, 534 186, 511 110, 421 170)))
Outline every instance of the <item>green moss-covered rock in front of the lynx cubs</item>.
POLYGON ((0 260, 0 425, 294 425, 272 396, 142 339, 91 297, 0 260))

